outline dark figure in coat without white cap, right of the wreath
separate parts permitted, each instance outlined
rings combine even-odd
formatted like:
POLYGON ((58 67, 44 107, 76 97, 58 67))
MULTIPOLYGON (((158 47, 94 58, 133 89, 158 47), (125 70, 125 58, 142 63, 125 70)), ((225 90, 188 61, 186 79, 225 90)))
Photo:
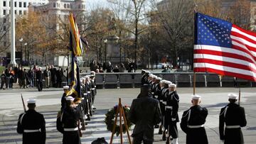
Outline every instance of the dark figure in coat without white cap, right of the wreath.
POLYGON ((159 101, 149 96, 149 85, 142 86, 140 98, 132 101, 128 118, 135 124, 133 143, 153 143, 154 125, 161 121, 162 116, 159 101))

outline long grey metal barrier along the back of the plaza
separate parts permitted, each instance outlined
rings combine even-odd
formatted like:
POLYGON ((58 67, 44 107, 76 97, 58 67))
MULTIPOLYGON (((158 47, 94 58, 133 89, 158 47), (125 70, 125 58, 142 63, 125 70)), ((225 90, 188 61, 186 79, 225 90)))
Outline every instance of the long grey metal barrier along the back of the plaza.
MULTIPOLYGON (((88 73, 81 73, 84 77, 88 73)), ((173 73, 153 73, 158 77, 162 77, 177 84, 177 87, 193 87, 193 72, 173 72, 173 73)), ((134 88, 140 87, 142 74, 117 72, 117 73, 97 73, 96 82, 98 89, 110 88, 134 88)), ((238 84, 242 87, 256 87, 255 82, 245 79, 238 79, 238 84)), ((196 73, 196 87, 233 87, 233 77, 223 77, 221 79, 218 74, 199 72, 196 73)))

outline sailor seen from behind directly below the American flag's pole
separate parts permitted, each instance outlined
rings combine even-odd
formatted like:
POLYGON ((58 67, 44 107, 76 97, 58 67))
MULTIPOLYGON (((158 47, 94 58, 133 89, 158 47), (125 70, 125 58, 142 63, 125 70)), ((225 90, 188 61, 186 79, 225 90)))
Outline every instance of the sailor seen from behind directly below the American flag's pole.
POLYGON ((186 133, 186 144, 208 144, 206 129, 206 117, 208 111, 201 107, 201 96, 193 95, 190 109, 183 112, 181 118, 181 129, 186 133))

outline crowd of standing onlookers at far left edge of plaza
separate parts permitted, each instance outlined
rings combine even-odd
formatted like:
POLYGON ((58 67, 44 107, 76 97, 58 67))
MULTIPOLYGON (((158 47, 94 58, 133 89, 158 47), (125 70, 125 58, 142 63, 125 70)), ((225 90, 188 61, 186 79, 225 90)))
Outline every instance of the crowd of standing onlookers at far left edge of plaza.
POLYGON ((12 89, 13 84, 18 83, 20 88, 26 89, 38 86, 41 91, 43 79, 46 88, 62 87, 63 69, 59 67, 57 70, 53 65, 46 66, 46 70, 43 71, 37 65, 33 65, 29 70, 26 70, 21 65, 6 67, 6 70, 1 74, 1 89, 12 89))

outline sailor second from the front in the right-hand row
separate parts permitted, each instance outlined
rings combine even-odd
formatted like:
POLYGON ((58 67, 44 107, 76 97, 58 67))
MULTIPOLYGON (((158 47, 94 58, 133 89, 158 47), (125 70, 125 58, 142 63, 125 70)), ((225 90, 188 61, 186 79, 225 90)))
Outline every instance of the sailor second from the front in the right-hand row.
MULTIPOLYGON (((170 81, 168 81, 168 80, 165 80, 164 81, 164 89, 162 90, 162 92, 161 92, 161 99, 163 99, 162 101, 162 103, 164 104, 164 120, 165 120, 165 114, 166 114, 166 108, 165 108, 165 106, 166 106, 166 98, 167 98, 167 94, 169 94, 169 84, 171 84, 171 82, 170 81)), ((164 126, 165 126, 165 121, 164 121, 164 126)), ((166 140, 166 131, 167 131, 167 128, 166 127, 164 127, 164 133, 163 133, 163 137, 162 137, 162 140, 166 140)))

